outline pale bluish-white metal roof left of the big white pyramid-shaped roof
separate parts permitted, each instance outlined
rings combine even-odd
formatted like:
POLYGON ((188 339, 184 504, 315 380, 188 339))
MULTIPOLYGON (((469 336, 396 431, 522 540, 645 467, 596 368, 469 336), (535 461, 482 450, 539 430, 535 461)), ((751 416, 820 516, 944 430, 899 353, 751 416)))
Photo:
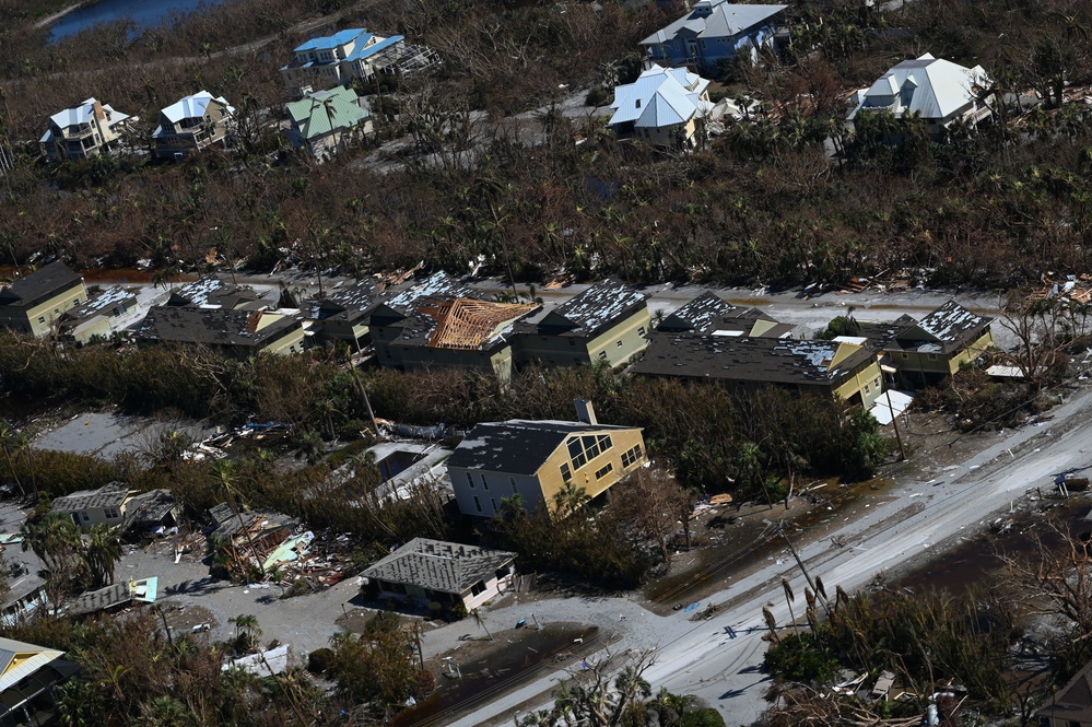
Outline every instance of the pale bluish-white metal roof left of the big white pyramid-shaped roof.
POLYGON ((660 128, 705 116, 713 107, 701 99, 709 82, 685 68, 653 65, 633 83, 614 87, 614 115, 609 124, 660 128))

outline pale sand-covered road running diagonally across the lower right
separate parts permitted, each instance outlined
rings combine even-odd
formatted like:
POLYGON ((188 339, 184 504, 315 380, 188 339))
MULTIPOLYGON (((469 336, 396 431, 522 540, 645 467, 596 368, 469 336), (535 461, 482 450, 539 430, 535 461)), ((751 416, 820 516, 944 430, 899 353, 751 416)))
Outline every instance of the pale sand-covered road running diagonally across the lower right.
MULTIPOLYGON (((1048 486, 1055 472, 1092 465, 1092 427, 1083 426, 1090 410, 1092 397, 1081 391, 1059 407, 1049 426, 1018 430, 961 465, 938 472, 935 480, 897 482, 892 500, 872 506, 861 517, 846 518, 836 532, 843 547, 829 539, 812 542, 799 548, 801 558, 812 576, 822 576, 829 590, 838 584, 852 591, 961 532, 983 527, 991 513, 1029 489, 1048 486)), ((765 652, 762 607, 768 605, 779 624, 789 621, 783 577, 802 594, 803 576, 786 553, 714 596, 713 602, 729 601, 717 618, 701 623, 680 614, 642 619, 642 628, 629 634, 626 645, 637 642, 658 647, 657 661, 645 675, 653 688, 696 694, 716 706, 729 724, 753 722, 766 706, 762 694, 767 683, 758 670, 765 652), (732 626, 737 637, 729 638, 726 626, 732 626)), ((584 609, 592 619, 594 613, 621 612, 617 606, 607 601, 584 609)), ((547 605, 536 608, 542 612, 547 605)), ((545 701, 564 676, 564 671, 553 672, 451 724, 471 727, 515 708, 527 710, 530 700, 545 701)))

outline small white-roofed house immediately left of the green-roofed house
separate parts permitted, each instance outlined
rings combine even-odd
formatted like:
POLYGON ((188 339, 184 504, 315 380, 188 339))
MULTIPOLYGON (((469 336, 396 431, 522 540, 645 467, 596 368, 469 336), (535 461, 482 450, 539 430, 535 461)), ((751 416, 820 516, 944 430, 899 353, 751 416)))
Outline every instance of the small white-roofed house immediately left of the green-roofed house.
POLYGON ((227 144, 235 128, 235 107, 223 96, 198 91, 160 112, 160 125, 152 133, 153 153, 158 159, 180 161, 214 143, 227 144))

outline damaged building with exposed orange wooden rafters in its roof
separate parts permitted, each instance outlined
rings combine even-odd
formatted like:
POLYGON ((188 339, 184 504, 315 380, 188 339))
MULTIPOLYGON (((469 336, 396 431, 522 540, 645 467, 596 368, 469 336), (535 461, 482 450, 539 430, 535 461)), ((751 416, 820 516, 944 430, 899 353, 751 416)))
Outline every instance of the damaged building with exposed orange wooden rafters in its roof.
POLYGON ((538 304, 493 303, 438 272, 379 303, 367 326, 381 366, 455 367, 512 375, 514 325, 538 304))

